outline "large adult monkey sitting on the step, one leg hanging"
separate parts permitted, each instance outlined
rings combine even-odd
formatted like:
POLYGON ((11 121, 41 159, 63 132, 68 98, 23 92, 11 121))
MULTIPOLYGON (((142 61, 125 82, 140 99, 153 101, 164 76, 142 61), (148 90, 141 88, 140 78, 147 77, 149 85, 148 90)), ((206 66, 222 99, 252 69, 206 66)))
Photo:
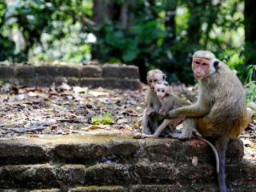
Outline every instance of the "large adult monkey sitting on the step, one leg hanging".
POLYGON ((186 117, 182 133, 171 136, 190 138, 193 129, 196 129, 203 138, 214 141, 220 161, 218 186, 220 192, 226 192, 226 146, 249 125, 252 111, 246 108, 242 83, 238 77, 210 51, 198 50, 194 53, 192 70, 199 82, 198 101, 168 112, 166 118, 186 117))

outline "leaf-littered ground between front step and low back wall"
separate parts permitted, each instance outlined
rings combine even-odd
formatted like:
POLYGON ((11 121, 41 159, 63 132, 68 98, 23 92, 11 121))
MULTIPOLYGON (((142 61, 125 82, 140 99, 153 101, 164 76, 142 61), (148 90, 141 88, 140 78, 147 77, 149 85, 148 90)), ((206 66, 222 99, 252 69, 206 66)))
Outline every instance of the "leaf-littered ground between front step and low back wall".
MULTIPOLYGON (((146 89, 144 85, 141 90, 131 91, 67 84, 50 87, 4 84, 0 94, 0 139, 140 132, 146 89), (106 123, 97 122, 104 114, 107 114, 106 123)), ((194 102, 198 94, 194 87, 174 86, 173 90, 183 104, 194 102)), ((247 154, 255 159, 256 122, 252 122, 240 138, 247 154)))

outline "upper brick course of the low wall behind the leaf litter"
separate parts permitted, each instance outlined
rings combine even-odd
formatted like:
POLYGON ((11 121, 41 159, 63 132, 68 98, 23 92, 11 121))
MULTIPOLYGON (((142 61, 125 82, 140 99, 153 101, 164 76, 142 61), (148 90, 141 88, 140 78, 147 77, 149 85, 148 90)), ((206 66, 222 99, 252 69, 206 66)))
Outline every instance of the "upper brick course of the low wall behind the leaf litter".
POLYGON ((130 78, 138 79, 138 67, 120 64, 86 66, 0 66, 0 78, 36 78, 36 77, 75 77, 75 78, 130 78))

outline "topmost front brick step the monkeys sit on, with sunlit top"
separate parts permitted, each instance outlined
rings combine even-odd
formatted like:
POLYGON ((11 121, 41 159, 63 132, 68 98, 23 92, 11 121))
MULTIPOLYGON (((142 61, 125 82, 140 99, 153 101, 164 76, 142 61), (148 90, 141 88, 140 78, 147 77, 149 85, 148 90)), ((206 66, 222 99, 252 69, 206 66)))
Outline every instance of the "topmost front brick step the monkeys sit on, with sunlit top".
POLYGON ((150 162, 214 164, 214 155, 205 142, 173 138, 134 139, 120 135, 45 135, 40 138, 0 140, 0 166, 32 163, 150 162))

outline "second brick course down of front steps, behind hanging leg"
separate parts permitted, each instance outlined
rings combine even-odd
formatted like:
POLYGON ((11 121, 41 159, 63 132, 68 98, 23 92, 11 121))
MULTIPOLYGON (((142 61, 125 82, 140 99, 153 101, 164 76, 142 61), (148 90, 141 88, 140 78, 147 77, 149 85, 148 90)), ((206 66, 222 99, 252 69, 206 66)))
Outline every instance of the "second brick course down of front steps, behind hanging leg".
MULTIPOLYGON (((227 165, 227 182, 231 185, 254 185, 256 167, 253 165, 227 165)), ((60 186, 112 186, 135 184, 212 184, 215 183, 214 166, 181 165, 162 162, 134 164, 98 163, 84 165, 18 165, 0 167, 2 188, 47 188, 60 186)))

